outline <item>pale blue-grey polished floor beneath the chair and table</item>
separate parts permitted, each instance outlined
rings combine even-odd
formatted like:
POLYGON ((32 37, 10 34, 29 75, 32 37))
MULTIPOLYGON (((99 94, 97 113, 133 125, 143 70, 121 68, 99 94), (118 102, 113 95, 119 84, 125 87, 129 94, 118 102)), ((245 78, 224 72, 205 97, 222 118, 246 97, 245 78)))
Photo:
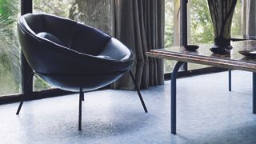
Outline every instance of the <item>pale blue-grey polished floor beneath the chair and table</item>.
POLYGON ((170 82, 142 90, 149 113, 135 91, 86 93, 82 131, 78 94, 0 106, 0 143, 256 143, 251 73, 227 72, 178 79, 178 130, 170 134, 170 82))

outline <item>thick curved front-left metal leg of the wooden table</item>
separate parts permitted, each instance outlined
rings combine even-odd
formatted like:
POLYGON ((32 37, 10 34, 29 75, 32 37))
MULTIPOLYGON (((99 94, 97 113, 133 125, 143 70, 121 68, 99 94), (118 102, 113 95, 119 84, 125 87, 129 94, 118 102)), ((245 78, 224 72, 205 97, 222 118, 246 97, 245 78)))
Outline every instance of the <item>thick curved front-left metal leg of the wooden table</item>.
POLYGON ((170 81, 170 129, 171 134, 176 134, 176 78, 178 70, 185 62, 177 62, 171 74, 170 81))

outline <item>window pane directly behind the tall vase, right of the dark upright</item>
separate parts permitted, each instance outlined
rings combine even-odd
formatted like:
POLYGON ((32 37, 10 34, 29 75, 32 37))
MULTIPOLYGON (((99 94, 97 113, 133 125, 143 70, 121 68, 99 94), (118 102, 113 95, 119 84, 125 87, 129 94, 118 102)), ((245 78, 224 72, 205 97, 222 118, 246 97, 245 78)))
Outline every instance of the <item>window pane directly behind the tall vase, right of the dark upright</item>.
MULTIPOLYGON (((188 4, 188 43, 213 44, 214 28, 210 18, 207 0, 191 0, 188 4)), ((234 11, 231 35, 235 38, 242 37, 242 1, 238 1, 234 11)), ((205 65, 188 64, 188 70, 202 69, 205 65)))

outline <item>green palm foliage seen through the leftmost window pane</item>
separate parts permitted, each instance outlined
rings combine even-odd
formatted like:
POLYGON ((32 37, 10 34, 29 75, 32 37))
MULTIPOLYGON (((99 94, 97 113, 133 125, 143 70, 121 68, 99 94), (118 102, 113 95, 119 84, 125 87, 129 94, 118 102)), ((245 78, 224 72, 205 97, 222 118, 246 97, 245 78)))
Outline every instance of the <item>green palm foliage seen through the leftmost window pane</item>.
POLYGON ((16 37, 18 6, 18 0, 0 0, 0 73, 11 72, 16 90, 20 82, 20 52, 16 37))

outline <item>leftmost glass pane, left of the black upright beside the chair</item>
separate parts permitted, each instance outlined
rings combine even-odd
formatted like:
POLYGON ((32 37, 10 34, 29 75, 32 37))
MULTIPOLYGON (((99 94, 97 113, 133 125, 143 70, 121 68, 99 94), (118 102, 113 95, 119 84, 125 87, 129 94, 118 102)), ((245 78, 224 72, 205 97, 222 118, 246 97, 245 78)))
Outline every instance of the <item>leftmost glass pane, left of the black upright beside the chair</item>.
POLYGON ((0 97, 21 93, 20 49, 17 38, 18 0, 0 1, 0 97))

